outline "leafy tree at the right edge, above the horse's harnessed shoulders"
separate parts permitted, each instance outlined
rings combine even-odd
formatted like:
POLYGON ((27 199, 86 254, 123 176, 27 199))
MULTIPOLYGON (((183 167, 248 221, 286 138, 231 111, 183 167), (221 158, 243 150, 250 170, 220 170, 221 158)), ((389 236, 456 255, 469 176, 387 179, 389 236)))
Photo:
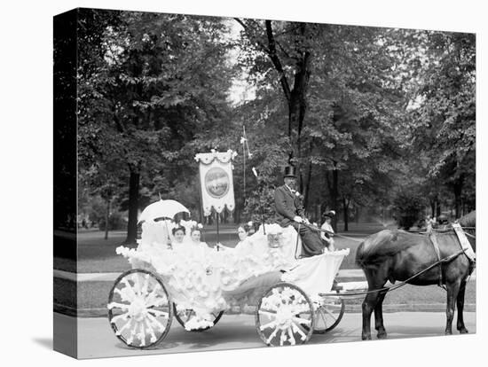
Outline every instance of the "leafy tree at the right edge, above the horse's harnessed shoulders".
POLYGON ((429 157, 429 177, 453 192, 460 217, 463 189, 476 182, 475 35, 427 32, 425 44, 412 135, 429 157))

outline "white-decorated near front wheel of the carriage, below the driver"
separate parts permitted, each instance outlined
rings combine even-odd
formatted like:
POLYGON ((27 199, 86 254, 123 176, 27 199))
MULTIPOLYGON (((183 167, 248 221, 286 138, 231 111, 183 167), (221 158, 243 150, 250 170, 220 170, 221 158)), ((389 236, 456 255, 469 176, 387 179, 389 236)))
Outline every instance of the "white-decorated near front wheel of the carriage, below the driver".
POLYGON ((306 343, 313 328, 312 302, 299 287, 282 282, 263 293, 256 307, 256 330, 266 345, 306 343))

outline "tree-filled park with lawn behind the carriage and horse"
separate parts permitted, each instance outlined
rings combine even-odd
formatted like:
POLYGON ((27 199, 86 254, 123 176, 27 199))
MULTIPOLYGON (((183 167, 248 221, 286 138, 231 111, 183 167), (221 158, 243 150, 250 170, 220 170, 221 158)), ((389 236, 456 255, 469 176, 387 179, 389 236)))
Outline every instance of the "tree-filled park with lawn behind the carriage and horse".
MULTIPOLYGON (((78 17, 76 78, 59 69, 55 82, 76 83, 78 133, 78 216, 54 217, 55 228, 77 231, 77 256, 56 241, 56 311, 106 315, 114 279, 76 283, 66 272, 130 269, 115 248, 137 246, 138 213, 160 198, 182 202, 216 244, 216 215, 201 214, 198 152, 238 152, 236 208, 219 219, 220 242, 235 246, 239 223, 272 221, 273 191, 294 164, 311 221, 334 209, 335 230, 348 235, 336 238, 351 250, 342 270, 358 269, 358 243, 374 232, 476 207, 474 34, 99 9, 78 17)), ((73 203, 57 199, 70 213, 73 203)), ((338 277, 359 279, 360 270, 338 277)), ((391 309, 444 302, 435 287, 386 299, 391 309)))

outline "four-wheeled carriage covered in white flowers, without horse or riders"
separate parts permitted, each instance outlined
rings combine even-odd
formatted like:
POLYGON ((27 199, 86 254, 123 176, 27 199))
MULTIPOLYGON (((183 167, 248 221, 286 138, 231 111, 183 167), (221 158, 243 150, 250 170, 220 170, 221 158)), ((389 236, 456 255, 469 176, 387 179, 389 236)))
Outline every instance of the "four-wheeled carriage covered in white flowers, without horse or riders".
POLYGON ((117 249, 132 269, 114 282, 108 318, 129 347, 156 346, 173 318, 187 331, 201 332, 225 312, 252 312, 256 331, 269 346, 305 343, 312 333, 329 332, 341 321, 342 298, 323 294, 331 293, 349 249, 296 259, 296 231, 277 224, 262 225, 247 248, 169 249, 161 241, 170 226, 169 221, 143 223, 138 249, 117 249))

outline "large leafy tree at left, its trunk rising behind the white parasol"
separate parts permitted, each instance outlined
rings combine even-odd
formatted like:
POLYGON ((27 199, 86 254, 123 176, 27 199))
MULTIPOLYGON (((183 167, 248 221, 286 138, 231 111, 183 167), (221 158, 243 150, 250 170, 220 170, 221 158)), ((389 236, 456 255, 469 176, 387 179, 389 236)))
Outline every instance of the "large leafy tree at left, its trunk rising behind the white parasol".
POLYGON ((230 78, 222 22, 140 12, 118 21, 98 27, 98 58, 82 60, 95 71, 79 77, 80 143, 86 167, 116 165, 129 178, 121 204, 129 210, 126 243, 134 243, 141 180, 147 195, 164 195, 176 176, 194 174, 185 144, 223 117, 230 78))

